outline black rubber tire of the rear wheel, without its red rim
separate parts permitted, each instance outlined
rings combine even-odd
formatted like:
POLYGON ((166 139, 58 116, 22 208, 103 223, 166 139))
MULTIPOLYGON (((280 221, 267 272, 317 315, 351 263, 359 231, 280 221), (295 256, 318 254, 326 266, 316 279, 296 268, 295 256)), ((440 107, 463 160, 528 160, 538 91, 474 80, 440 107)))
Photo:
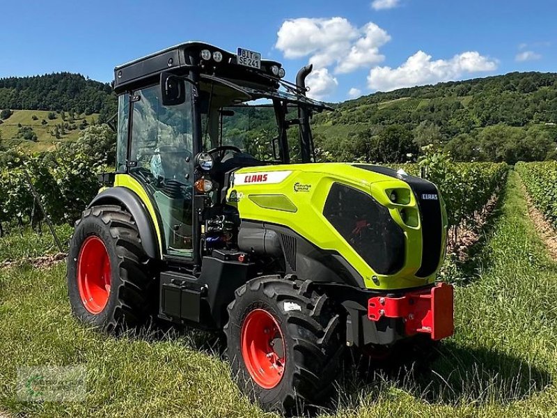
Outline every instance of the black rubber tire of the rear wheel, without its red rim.
POLYGON ((68 263, 68 296, 72 311, 81 322, 107 332, 143 325, 156 302, 155 279, 149 258, 143 251, 139 231, 132 215, 119 206, 93 206, 75 223, 68 263), (78 260, 84 242, 91 237, 102 240, 111 272, 106 306, 92 313, 81 300, 78 286, 78 260))

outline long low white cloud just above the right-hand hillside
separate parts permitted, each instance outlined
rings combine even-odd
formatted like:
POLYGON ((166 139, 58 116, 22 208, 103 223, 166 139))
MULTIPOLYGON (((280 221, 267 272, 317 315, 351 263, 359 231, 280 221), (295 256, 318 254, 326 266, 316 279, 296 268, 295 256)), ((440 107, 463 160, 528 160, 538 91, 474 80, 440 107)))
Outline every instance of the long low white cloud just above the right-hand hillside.
POLYGON ((473 72, 493 71, 497 61, 479 52, 463 52, 452 59, 432 61, 432 56, 418 51, 398 68, 375 67, 368 75, 373 90, 391 91, 397 88, 434 84, 458 79, 473 72))

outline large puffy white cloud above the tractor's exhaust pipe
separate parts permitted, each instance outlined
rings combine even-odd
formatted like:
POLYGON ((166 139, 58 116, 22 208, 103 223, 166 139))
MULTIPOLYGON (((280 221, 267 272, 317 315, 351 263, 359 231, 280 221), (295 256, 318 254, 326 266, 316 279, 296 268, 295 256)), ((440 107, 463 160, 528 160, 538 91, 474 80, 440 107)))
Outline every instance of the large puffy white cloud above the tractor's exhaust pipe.
POLYGON ((275 47, 285 58, 309 56, 315 68, 336 63, 335 72, 347 73, 382 62, 379 47, 389 40, 391 36, 372 22, 358 29, 344 17, 301 17, 281 25, 275 47))

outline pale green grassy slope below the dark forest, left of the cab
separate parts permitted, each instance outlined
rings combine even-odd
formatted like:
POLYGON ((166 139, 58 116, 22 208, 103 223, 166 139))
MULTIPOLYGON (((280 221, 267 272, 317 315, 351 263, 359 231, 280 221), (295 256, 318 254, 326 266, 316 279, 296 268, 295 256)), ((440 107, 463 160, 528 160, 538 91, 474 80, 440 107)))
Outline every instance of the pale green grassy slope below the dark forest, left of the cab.
MULTIPOLYGON (((93 119, 98 119, 97 114, 92 114, 89 116, 85 116, 85 114, 79 115, 79 118, 75 119, 74 123, 77 126, 75 130, 69 130, 66 132, 65 135, 62 135, 60 139, 56 139, 52 135, 52 130, 56 125, 60 125, 64 123, 62 120, 61 114, 56 113, 56 119, 50 120, 48 118, 48 114, 50 111, 47 110, 14 110, 13 115, 10 116, 8 119, 3 121, 0 125, 0 137, 2 141, 10 146, 19 146, 24 150, 30 151, 43 151, 43 150, 52 150, 56 147, 61 141, 72 141, 79 137, 79 124, 83 119, 87 121, 87 123, 92 123, 93 119), (33 116, 37 116, 37 120, 33 121, 33 116), (45 120, 47 122, 46 125, 42 125, 41 121, 45 120), (26 141, 25 139, 18 139, 17 138, 17 131, 19 130, 18 124, 21 123, 22 127, 30 126, 33 128, 33 132, 37 134, 37 142, 33 141, 26 141)), ((66 118, 68 121, 68 118, 66 118)))

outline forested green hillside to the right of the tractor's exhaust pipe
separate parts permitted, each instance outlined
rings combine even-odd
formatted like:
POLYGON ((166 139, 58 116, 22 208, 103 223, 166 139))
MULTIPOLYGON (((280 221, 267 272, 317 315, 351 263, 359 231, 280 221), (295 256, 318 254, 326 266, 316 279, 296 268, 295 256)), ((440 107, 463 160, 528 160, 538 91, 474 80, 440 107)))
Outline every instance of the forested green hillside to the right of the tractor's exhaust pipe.
POLYGON ((556 123, 557 74, 512 72, 349 100, 315 116, 315 132, 338 160, 411 159, 434 143, 456 160, 514 163, 555 158, 556 123))

